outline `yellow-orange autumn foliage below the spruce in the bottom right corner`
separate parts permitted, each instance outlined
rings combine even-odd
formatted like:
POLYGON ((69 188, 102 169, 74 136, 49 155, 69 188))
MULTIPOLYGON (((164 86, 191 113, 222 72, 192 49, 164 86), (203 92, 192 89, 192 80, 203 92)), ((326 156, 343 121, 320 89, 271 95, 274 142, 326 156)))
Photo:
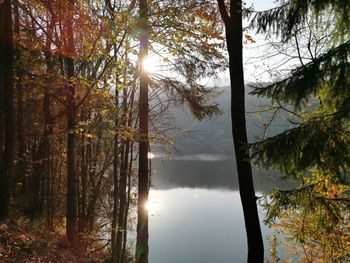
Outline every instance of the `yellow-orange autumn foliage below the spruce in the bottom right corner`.
POLYGON ((289 253, 300 261, 348 262, 349 190, 348 183, 314 171, 302 187, 266 196, 265 221, 287 237, 289 253))

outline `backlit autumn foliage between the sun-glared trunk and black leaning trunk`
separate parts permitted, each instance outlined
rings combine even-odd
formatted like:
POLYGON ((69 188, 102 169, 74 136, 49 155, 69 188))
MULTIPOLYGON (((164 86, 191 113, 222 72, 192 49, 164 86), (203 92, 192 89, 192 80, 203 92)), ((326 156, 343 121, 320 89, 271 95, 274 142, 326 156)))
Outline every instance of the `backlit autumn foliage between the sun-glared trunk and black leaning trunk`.
POLYGON ((199 84, 227 67, 216 6, 198 1, 160 1, 149 9, 150 53, 159 55, 160 66, 166 69, 150 73, 151 87, 162 90, 177 104, 186 102, 199 120, 219 114, 217 105, 210 103, 215 89, 199 84))

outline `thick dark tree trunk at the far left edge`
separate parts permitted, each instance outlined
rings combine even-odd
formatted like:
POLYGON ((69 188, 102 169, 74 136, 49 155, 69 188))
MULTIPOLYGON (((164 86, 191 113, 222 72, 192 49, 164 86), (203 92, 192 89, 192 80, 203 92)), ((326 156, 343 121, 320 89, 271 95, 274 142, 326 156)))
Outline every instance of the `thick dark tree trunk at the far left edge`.
POLYGON ((0 107, 3 107, 5 122, 4 153, 0 160, 0 220, 6 219, 9 213, 14 161, 13 55, 11 0, 4 0, 0 4, 0 92, 3 94, 0 107))

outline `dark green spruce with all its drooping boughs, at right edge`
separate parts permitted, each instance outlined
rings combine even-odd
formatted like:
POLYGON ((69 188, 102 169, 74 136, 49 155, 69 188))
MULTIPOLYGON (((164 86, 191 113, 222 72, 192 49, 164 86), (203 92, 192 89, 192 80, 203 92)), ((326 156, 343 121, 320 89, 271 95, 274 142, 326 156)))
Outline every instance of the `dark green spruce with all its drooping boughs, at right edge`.
POLYGON ((325 16, 330 19, 324 23, 323 29, 328 28, 330 33, 325 32, 325 36, 318 40, 325 47, 318 53, 311 52, 311 42, 306 44, 310 54, 307 63, 297 48, 295 52, 299 54, 300 65, 287 76, 279 76, 281 79, 272 84, 253 90, 253 94, 291 104, 297 111, 298 120, 292 129, 252 144, 252 157, 257 163, 273 166, 293 177, 303 179, 306 171, 315 169, 326 178, 341 182, 347 177, 350 151, 350 42, 344 28, 348 19, 340 15, 350 7, 344 1, 305 3, 308 5, 299 6, 296 1, 289 1, 274 10, 259 13, 253 19, 259 30, 277 26, 283 42, 298 37, 304 32, 306 23, 313 22, 309 34, 315 34, 317 28, 322 28, 318 22, 325 16), (309 12, 313 15, 312 21, 306 18, 309 12), (298 18, 295 18, 296 13, 300 14, 298 18), (308 108, 309 101, 318 103, 308 108))

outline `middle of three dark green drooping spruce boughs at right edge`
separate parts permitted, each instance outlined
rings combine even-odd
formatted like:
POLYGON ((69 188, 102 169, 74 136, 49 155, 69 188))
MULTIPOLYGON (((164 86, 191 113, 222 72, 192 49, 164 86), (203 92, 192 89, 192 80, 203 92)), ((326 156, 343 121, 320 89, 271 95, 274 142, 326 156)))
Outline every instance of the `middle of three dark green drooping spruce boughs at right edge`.
POLYGON ((288 78, 255 88, 252 94, 291 103, 296 108, 305 106, 310 96, 314 95, 322 98, 324 103, 337 105, 340 107, 338 111, 347 110, 346 104, 339 102, 348 99, 350 94, 349 56, 350 41, 331 48, 308 64, 292 70, 288 78), (325 88, 327 94, 324 94, 325 88))

